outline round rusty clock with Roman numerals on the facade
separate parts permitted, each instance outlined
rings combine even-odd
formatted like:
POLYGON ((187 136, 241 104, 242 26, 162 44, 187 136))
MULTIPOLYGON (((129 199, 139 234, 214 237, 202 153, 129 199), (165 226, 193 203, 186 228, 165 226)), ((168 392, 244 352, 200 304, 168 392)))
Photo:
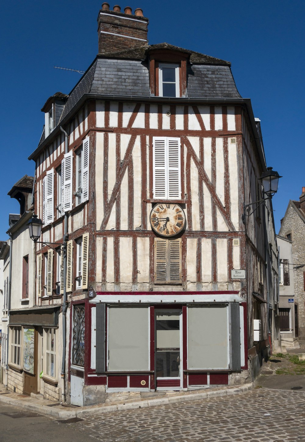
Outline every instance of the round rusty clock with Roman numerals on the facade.
POLYGON ((159 203, 149 215, 152 230, 161 236, 178 235, 185 226, 185 213, 179 204, 159 203))

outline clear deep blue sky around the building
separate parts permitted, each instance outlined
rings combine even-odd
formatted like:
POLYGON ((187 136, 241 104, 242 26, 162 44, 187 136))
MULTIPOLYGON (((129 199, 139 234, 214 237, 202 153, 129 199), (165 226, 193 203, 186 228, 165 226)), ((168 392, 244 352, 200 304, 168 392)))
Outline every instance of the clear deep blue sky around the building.
MULTIPOLYGON (((98 1, 11 0, 0 7, 2 190, 0 240, 8 214, 19 204, 7 192, 23 175, 34 175, 27 157, 44 124, 43 104, 69 93, 98 49, 98 1)), ((276 232, 289 199, 298 199, 304 176, 304 0, 185 2, 131 0, 149 18, 149 43, 176 46, 229 60, 237 88, 251 98, 261 120, 267 166, 283 178, 273 198, 276 232), (303 29, 303 31, 302 31, 303 29)), ((113 9, 114 3, 110 3, 113 9)))

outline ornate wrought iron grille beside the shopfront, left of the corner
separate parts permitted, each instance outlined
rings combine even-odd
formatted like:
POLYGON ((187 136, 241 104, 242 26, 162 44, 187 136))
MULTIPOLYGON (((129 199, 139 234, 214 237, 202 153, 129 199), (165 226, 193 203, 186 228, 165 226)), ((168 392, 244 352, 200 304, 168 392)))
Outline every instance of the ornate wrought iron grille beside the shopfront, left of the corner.
POLYGON ((75 306, 73 313, 72 364, 84 366, 85 362, 85 306, 75 306))

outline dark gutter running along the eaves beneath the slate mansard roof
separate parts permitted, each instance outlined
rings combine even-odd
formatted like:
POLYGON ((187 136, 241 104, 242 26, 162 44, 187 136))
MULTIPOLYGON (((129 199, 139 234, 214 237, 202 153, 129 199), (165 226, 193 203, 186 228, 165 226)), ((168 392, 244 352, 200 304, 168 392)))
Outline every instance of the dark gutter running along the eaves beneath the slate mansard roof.
POLYGON ((89 99, 92 100, 114 100, 114 101, 125 101, 125 102, 137 102, 137 103, 164 103, 164 104, 188 104, 188 105, 198 105, 198 104, 237 104, 237 105, 245 105, 248 111, 251 127, 254 133, 256 147, 259 153, 259 159, 261 160, 263 171, 266 170, 266 159, 265 153, 263 151, 263 146, 260 142, 259 133, 257 131, 257 127, 255 124, 254 114, 251 105, 250 98, 176 98, 176 97, 143 97, 136 95, 102 95, 102 94, 91 94, 86 93, 82 95, 82 97, 78 100, 76 105, 72 107, 70 112, 61 120, 60 125, 57 126, 48 137, 38 146, 36 150, 28 157, 28 160, 35 160, 38 154, 47 146, 50 145, 53 138, 57 137, 61 132, 61 127, 65 126, 65 124, 72 118, 72 116, 76 113, 76 111, 89 99))

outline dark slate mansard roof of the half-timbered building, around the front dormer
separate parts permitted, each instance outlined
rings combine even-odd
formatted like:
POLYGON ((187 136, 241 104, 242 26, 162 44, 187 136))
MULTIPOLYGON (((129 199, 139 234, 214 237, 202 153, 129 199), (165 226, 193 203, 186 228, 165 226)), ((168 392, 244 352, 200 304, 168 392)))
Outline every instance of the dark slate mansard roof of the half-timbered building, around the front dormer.
MULTIPOLYGON (((99 54, 70 92, 58 124, 84 94, 150 97, 149 52, 175 50, 189 55, 187 97, 241 98, 236 89, 229 61, 210 57, 168 43, 145 45, 132 50, 99 54)), ((44 141, 44 130, 39 145, 44 141)))

